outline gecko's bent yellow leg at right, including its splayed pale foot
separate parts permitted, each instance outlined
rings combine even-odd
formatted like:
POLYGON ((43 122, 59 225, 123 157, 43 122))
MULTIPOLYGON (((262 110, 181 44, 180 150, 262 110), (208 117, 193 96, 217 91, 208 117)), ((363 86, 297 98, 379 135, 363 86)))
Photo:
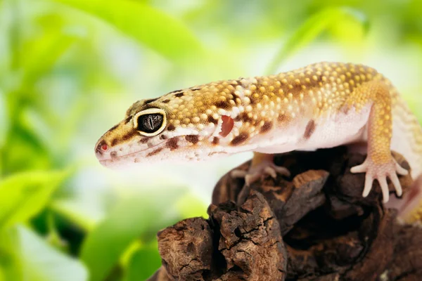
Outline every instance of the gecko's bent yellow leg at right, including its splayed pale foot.
POLYGON ((400 166, 391 155, 392 138, 392 97, 389 88, 383 81, 371 81, 362 84, 350 94, 346 100, 346 108, 372 103, 367 124, 368 156, 363 164, 354 166, 352 173, 366 173, 364 197, 369 195, 373 181, 377 180, 383 192, 383 202, 388 202, 389 190, 387 177, 395 186, 397 196, 402 195, 399 175, 407 175, 408 171, 400 166))

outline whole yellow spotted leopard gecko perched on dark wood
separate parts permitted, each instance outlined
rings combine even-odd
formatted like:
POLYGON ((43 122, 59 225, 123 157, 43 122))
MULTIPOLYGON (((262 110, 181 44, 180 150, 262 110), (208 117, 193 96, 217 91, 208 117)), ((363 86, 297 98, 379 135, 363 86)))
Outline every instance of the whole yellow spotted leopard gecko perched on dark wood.
POLYGON ((422 216, 422 129, 391 81, 372 67, 314 63, 290 72, 215 81, 138 100, 95 146, 104 166, 162 161, 200 161, 252 151, 246 185, 260 176, 289 176, 275 154, 338 145, 366 144, 366 160, 352 173, 366 173, 363 196, 378 181, 383 202, 388 179, 398 197, 397 164, 409 162, 416 179, 407 198, 407 221, 422 216))

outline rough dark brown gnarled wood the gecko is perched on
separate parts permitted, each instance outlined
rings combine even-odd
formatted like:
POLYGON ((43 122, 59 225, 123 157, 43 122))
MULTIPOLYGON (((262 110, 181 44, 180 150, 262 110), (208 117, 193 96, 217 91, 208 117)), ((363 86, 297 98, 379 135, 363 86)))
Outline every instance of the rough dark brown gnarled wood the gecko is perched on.
MULTIPOLYGON (((275 163, 292 177, 248 189, 229 172, 210 218, 158 233, 162 268, 150 280, 422 280, 422 228, 385 209, 378 183, 362 197, 364 174, 350 168, 364 158, 345 148, 280 155, 275 163)), ((405 192, 412 180, 400 181, 405 192)))

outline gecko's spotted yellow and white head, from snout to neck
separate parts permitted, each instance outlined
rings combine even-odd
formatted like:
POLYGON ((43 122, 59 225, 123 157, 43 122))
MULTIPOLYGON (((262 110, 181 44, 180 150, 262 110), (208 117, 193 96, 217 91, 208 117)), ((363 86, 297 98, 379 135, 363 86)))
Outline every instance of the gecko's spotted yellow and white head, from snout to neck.
POLYGON ((198 91, 174 91, 134 103, 126 117, 96 143, 98 160, 112 167, 165 160, 186 162, 242 150, 237 144, 245 141, 245 135, 236 128, 231 116, 234 111, 212 106, 215 93, 207 96, 207 92, 198 91), (234 143, 237 150, 231 149, 234 143))

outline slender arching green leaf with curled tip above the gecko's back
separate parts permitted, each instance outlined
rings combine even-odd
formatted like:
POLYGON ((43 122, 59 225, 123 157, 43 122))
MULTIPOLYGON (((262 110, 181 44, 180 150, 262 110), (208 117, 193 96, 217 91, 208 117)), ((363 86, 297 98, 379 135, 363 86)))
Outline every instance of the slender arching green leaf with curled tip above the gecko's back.
POLYGON ((303 24, 287 39, 276 54, 274 60, 272 60, 267 67, 266 73, 275 73, 283 60, 286 60, 286 58, 293 55, 293 53, 300 48, 310 44, 322 32, 332 29, 332 27, 340 25, 343 22, 347 22, 350 27, 351 20, 355 25, 362 27, 364 30, 368 30, 368 20, 362 13, 353 10, 352 8, 326 8, 319 13, 314 14, 303 22, 303 24))

